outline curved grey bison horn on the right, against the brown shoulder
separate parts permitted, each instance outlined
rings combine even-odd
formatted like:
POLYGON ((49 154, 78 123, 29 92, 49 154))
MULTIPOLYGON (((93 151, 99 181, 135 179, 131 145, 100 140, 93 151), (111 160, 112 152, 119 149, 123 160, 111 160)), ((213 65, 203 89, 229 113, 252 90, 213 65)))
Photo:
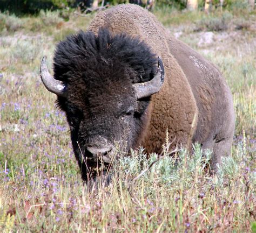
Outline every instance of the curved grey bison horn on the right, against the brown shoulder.
POLYGON ((137 100, 151 96, 161 89, 164 83, 164 65, 161 59, 158 57, 158 69, 156 75, 149 82, 135 83, 133 88, 136 93, 137 100))

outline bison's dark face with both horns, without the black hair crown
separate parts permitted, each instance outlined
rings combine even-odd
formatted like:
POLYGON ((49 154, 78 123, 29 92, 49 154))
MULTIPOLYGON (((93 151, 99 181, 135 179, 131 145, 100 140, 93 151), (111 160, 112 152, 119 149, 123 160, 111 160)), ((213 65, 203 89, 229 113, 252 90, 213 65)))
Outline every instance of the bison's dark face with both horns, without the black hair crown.
POLYGON ((51 77, 45 57, 42 60, 43 83, 58 95, 58 105, 66 112, 73 150, 80 165, 110 164, 117 155, 117 145, 122 151, 137 145, 150 96, 163 84, 164 67, 160 58, 156 74, 144 83, 132 84, 136 73, 127 67, 117 69, 117 66, 119 64, 111 65, 103 73, 91 69, 79 77, 73 74, 72 82, 64 83, 51 77))

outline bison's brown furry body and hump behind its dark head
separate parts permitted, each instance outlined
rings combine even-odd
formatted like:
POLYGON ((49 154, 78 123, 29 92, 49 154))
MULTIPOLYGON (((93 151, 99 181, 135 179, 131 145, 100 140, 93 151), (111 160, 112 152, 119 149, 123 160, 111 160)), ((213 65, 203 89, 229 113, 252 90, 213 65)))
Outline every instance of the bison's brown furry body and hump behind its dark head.
POLYGON ((137 145, 160 152, 166 129, 175 145, 199 142, 213 150, 212 169, 230 154, 234 133, 232 96, 226 81, 211 62, 170 36, 150 12, 122 4, 98 13, 89 30, 99 27, 113 34, 139 36, 164 62, 165 81, 147 108, 144 130, 137 145))

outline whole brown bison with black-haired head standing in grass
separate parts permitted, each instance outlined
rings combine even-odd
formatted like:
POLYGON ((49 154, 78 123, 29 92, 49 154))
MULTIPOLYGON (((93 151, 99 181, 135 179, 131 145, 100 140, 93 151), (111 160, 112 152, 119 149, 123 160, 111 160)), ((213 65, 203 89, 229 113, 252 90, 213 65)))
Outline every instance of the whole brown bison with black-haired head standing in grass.
POLYGON ((224 77, 140 6, 99 12, 86 32, 60 41, 53 77, 45 59, 41 78, 66 114, 84 180, 111 163, 115 142, 128 153, 160 153, 166 129, 173 147, 212 150, 213 172, 230 154, 234 110, 224 77))

